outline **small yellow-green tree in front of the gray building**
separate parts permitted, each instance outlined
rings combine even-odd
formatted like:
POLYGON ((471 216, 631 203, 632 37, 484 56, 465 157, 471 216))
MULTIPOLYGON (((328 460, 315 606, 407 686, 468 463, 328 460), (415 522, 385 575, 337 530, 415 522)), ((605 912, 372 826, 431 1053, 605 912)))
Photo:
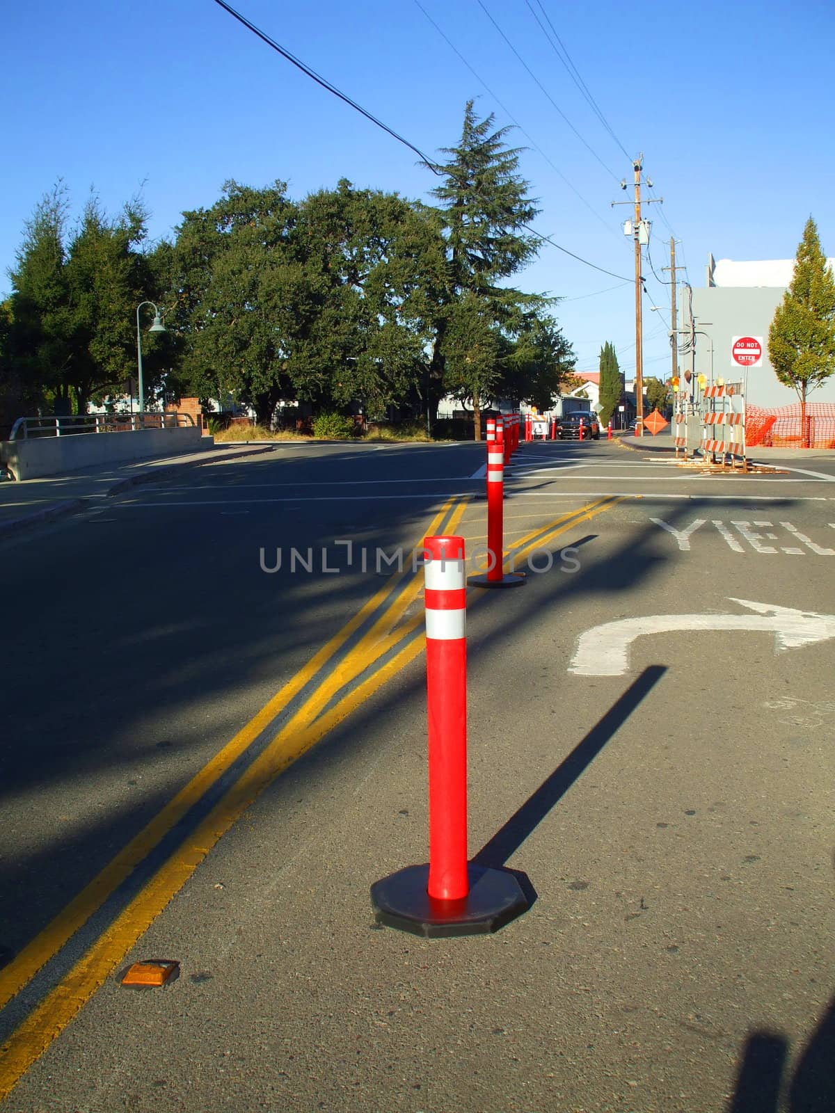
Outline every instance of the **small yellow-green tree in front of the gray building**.
POLYGON ((768 329, 768 357, 780 383, 797 392, 806 442, 806 397, 835 371, 835 278, 812 217, 803 229, 792 282, 768 329))

